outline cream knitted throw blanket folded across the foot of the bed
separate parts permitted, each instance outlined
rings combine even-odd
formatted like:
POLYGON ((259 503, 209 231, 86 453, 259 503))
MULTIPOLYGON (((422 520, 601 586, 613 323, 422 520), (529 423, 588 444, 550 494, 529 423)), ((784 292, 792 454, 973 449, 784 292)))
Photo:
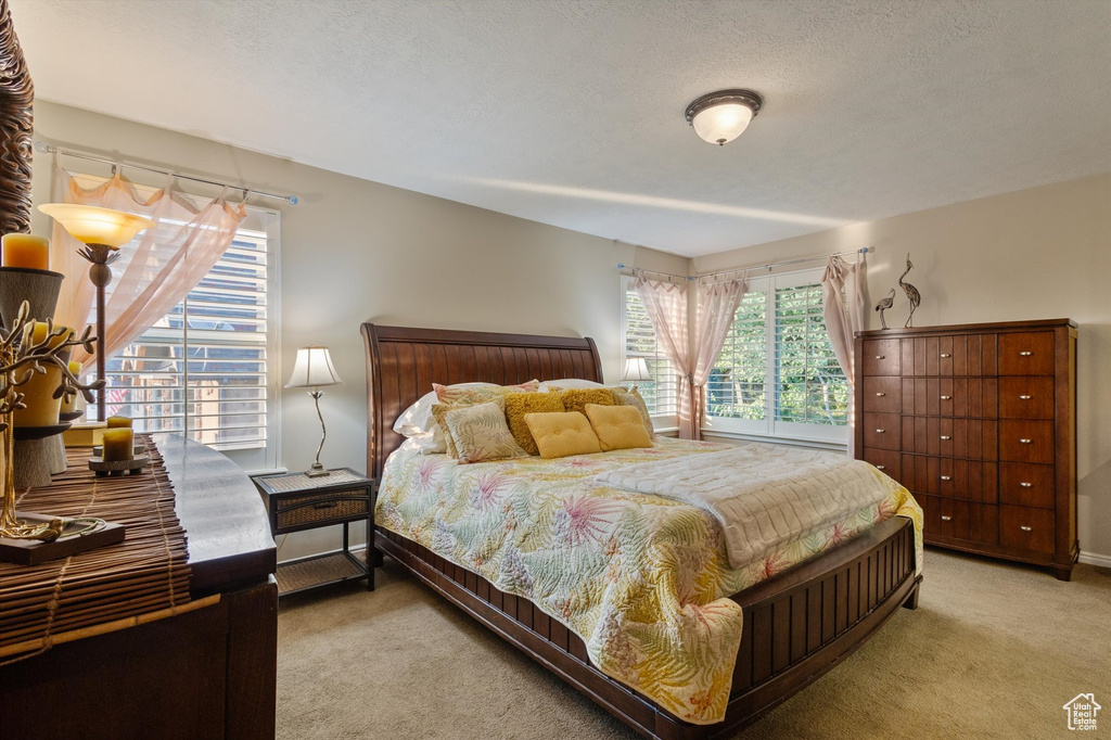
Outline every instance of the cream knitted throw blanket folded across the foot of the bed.
POLYGON ((774 444, 641 462, 594 480, 709 511, 721 524, 730 568, 874 507, 900 488, 863 460, 774 444))

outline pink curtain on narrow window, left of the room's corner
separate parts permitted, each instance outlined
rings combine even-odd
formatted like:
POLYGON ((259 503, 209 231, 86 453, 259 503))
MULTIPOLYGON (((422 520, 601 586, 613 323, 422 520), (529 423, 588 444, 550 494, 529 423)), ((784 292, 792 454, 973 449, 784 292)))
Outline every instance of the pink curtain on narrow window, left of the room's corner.
POLYGON ((644 304, 655 340, 671 360, 679 380, 679 437, 694 439, 691 422, 690 346, 687 333, 687 286, 668 281, 649 280, 642 270, 634 270, 634 288, 644 304))

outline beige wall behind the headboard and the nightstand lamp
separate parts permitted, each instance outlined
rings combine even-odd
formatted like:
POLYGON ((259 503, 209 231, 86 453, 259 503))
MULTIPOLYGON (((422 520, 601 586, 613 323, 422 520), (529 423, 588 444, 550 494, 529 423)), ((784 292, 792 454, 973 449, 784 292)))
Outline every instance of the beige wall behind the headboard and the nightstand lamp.
MULTIPOLYGON (((297 348, 316 343, 331 348, 346 381, 322 399, 329 430, 322 462, 330 467, 366 469, 363 321, 589 336, 598 342, 605 377, 615 379, 617 263, 680 274, 688 268, 684 258, 199 137, 44 101, 36 103, 34 113, 37 140, 300 198, 298 206, 252 202, 282 211, 280 380, 292 368, 297 348)), ((51 159, 36 157, 36 204, 50 200, 51 159)), ((46 219, 37 217, 34 229, 48 233, 46 219)), ((281 393, 279 460, 302 469, 320 439, 312 401, 301 390, 281 393)), ((334 532, 306 532, 291 537, 281 557, 338 542, 334 532)))

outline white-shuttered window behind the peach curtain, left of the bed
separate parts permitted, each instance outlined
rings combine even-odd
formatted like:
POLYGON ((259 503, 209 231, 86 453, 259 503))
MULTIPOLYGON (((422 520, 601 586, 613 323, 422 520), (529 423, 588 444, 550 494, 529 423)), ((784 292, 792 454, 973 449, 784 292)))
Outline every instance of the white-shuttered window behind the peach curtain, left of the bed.
MULTIPOLYGON (((137 432, 186 434, 259 470, 276 468, 278 457, 279 214, 247 210, 231 247, 189 296, 108 358, 106 410, 131 417, 137 432)), ((87 417, 96 416, 89 404, 87 417)))

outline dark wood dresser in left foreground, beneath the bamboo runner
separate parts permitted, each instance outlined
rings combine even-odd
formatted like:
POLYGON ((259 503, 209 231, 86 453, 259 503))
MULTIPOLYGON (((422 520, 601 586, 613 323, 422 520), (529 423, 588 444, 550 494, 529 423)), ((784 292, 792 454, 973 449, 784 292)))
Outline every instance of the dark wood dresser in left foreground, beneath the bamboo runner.
POLYGON ((219 452, 178 436, 156 442, 186 529, 190 597, 212 603, 0 667, 0 737, 274 737, 278 587, 266 509, 219 452))

